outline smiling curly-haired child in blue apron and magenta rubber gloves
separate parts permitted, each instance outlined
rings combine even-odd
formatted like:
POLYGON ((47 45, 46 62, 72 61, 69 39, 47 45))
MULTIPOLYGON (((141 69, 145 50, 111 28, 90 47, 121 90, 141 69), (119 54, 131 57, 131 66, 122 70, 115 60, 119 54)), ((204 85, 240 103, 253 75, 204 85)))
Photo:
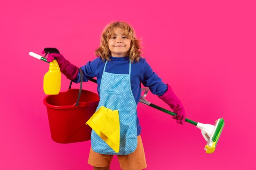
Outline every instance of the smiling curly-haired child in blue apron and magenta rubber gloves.
MULTIPOLYGON (((141 83, 168 104, 177 116, 177 123, 184 124, 185 111, 171 87, 164 84, 141 57, 139 40, 133 28, 126 22, 112 22, 101 35, 98 56, 82 66, 83 81, 97 77, 99 107, 118 110, 120 121, 120 150, 115 152, 92 130, 88 163, 94 170, 109 170, 113 155, 118 155, 122 170, 146 168, 144 148, 141 141, 141 126, 137 116, 137 104, 141 96, 141 83)), ((42 53, 45 53, 44 51, 42 53)), ((61 72, 73 82, 80 82, 78 68, 61 54, 49 54, 47 61, 56 57, 61 72)))

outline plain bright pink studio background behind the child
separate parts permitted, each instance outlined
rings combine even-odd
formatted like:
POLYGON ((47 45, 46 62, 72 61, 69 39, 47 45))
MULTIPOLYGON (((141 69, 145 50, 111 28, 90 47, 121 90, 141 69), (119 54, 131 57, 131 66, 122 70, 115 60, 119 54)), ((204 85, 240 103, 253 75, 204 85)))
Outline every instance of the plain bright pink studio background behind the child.
MULTIPOLYGON (((52 141, 43 104, 48 64, 29 56, 56 47, 77 66, 93 60, 109 22, 130 23, 153 70, 171 84, 189 119, 225 128, 216 152, 195 126, 138 105, 147 170, 255 169, 255 45, 253 0, 1 2, 1 170, 92 170, 90 141, 52 141)), ((69 80, 62 76, 61 91, 69 80)), ((78 87, 77 85, 74 87, 78 87)), ((96 92, 96 84, 83 88, 96 92)), ((168 109, 155 95, 147 99, 168 109)), ((117 157, 112 170, 119 170, 117 157)))

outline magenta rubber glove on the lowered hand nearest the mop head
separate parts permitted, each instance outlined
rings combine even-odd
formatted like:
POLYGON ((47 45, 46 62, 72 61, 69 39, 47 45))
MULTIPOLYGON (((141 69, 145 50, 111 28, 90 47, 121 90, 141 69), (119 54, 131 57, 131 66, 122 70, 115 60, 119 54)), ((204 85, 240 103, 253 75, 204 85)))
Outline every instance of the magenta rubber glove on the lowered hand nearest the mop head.
POLYGON ((168 104, 171 109, 173 109, 173 112, 177 114, 176 116, 173 116, 173 119, 175 119, 178 124, 183 125, 185 123, 186 113, 180 100, 173 93, 171 86, 167 84, 167 91, 164 95, 158 97, 168 104))

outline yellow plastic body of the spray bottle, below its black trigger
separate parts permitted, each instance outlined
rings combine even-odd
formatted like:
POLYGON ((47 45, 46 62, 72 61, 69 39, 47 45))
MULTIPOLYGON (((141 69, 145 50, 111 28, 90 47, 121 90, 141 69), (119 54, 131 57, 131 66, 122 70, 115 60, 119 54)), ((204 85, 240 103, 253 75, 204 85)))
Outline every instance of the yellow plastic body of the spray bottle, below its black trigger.
POLYGON ((44 76, 43 89, 46 95, 57 95, 61 90, 61 70, 56 60, 49 64, 49 71, 44 76))

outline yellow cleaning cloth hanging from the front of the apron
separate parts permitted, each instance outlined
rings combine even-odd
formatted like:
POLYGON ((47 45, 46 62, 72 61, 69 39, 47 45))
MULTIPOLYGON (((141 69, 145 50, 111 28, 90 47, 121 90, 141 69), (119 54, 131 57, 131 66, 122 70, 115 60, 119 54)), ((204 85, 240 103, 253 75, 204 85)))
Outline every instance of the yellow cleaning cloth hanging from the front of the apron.
POLYGON ((110 148, 119 152, 120 124, 118 110, 101 106, 86 122, 110 148))

